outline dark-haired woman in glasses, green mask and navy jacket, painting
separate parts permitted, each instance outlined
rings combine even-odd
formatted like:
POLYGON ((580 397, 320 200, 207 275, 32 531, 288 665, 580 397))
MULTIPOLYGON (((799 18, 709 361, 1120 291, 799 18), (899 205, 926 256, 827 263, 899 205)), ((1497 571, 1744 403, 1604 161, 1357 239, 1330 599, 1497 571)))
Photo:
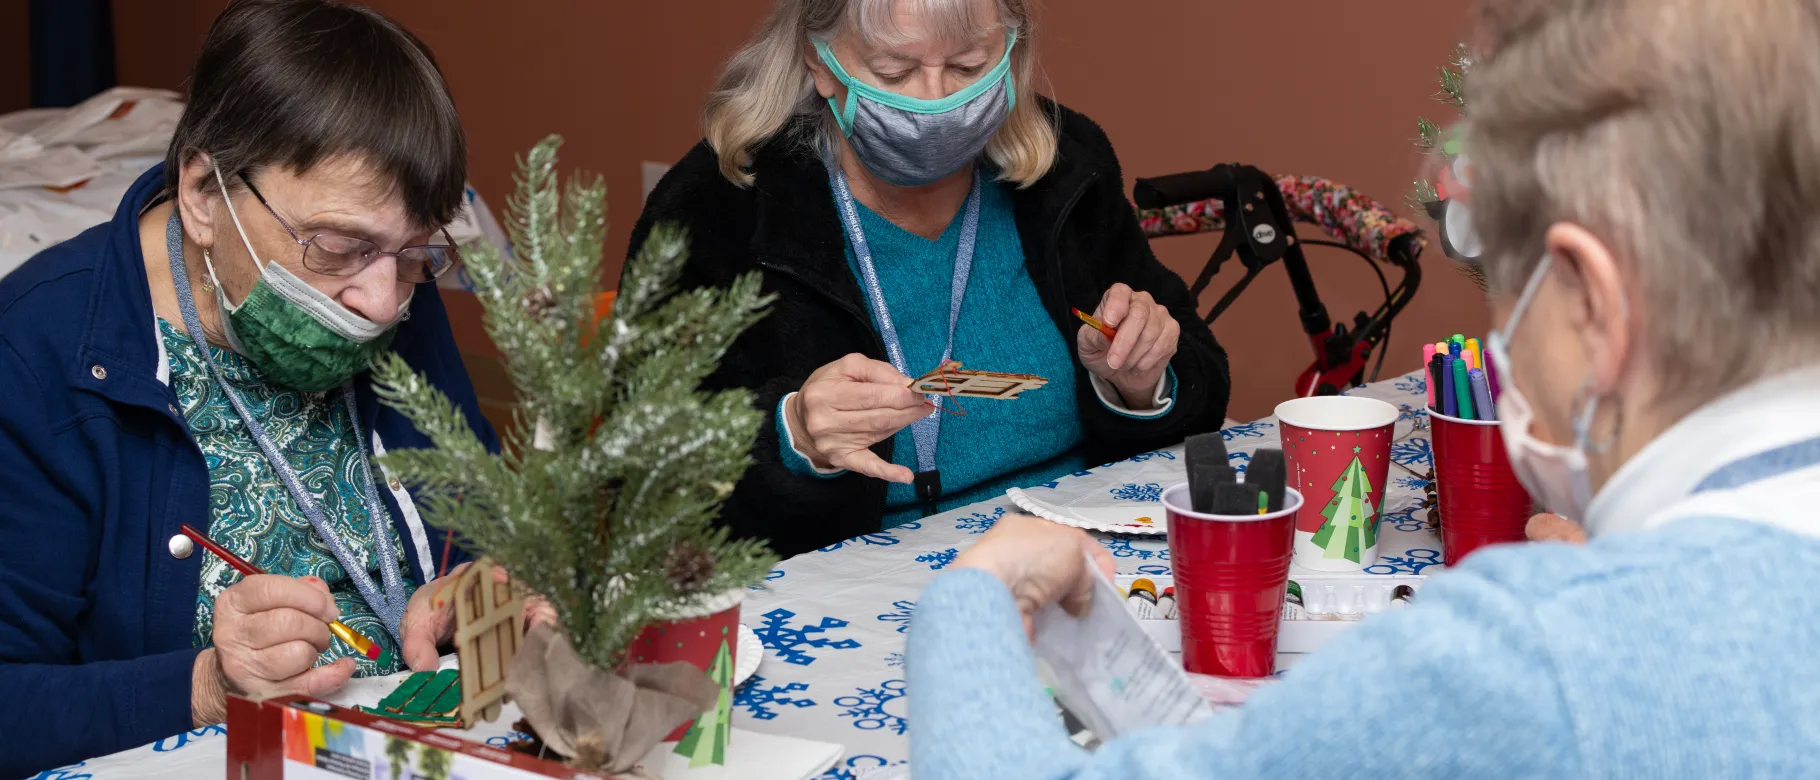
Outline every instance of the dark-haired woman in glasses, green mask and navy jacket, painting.
POLYGON ((115 220, 0 282, 0 776, 220 722, 226 693, 433 667, 450 631, 419 589, 444 538, 369 465, 426 440, 366 380, 389 349, 497 442, 433 284, 448 87, 377 13, 246 0, 189 89, 115 220))

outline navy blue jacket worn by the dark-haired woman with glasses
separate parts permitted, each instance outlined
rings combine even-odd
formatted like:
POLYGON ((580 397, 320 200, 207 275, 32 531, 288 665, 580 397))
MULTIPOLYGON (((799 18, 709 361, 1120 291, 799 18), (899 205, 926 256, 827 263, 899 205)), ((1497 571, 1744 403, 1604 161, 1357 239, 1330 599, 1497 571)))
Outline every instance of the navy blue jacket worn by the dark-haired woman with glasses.
MULTIPOLYGON (((204 551, 175 558, 178 524, 207 527, 202 451, 158 378, 138 215, 146 171, 113 222, 0 280, 0 776, 20 776, 191 727, 191 647, 204 551)), ((435 284, 419 285, 393 351, 448 393, 497 451, 435 284)), ((364 431, 430 442, 357 382, 364 431)), ((371 451, 373 442, 366 442, 371 451)), ((442 533, 379 484, 413 580, 442 533), (428 555, 424 555, 424 551, 428 555)))

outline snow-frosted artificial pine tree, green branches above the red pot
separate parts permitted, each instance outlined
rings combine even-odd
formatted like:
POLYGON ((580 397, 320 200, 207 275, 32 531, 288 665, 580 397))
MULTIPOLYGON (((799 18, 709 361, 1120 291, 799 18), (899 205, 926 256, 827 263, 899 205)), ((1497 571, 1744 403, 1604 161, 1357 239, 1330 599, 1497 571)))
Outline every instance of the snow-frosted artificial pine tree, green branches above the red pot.
POLYGON ((559 638, 612 676, 642 627, 755 584, 775 564, 763 544, 713 525, 763 415, 743 389, 699 389, 772 298, 757 275, 675 291, 688 242, 657 225, 597 320, 606 189, 599 176, 559 189, 559 145, 550 136, 519 164, 508 202, 515 256, 464 247, 517 389, 504 451, 488 453, 397 355, 373 378, 380 400, 431 440, 382 458, 415 485, 424 518, 548 598, 559 638))

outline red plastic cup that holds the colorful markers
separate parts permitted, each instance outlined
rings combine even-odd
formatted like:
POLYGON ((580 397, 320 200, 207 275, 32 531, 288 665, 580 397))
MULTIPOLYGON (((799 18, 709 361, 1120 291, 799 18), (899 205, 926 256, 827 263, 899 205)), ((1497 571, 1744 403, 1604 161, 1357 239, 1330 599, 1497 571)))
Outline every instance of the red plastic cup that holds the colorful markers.
POLYGON ((1523 542, 1534 502, 1511 471, 1498 420, 1461 420, 1432 409, 1429 420, 1447 565, 1460 565, 1489 544, 1523 542))

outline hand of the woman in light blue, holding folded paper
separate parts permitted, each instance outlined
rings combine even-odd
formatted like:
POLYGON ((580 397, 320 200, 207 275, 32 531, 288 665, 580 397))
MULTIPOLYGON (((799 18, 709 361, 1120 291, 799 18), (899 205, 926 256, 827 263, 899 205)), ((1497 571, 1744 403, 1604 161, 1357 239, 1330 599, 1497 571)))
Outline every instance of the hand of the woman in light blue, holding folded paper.
POLYGON ((1114 573, 1112 553, 1085 531, 1030 515, 1005 515, 954 565, 981 569, 1005 582, 1023 613, 1025 633, 1032 638, 1036 613, 1059 602, 1068 615, 1087 615, 1094 598, 1094 576, 1110 578, 1114 573), (1088 567, 1088 558, 1099 573, 1088 567))

